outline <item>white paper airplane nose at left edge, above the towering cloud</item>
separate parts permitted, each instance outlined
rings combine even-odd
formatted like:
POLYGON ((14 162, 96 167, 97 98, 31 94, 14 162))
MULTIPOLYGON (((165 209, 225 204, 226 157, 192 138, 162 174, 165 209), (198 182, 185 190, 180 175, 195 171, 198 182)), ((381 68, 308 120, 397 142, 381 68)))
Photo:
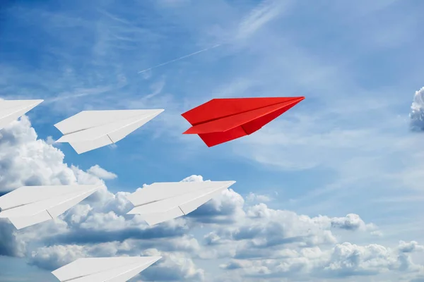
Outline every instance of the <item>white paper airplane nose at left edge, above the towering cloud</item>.
POLYGON ((0 100, 0 129, 23 116, 44 100, 0 100))

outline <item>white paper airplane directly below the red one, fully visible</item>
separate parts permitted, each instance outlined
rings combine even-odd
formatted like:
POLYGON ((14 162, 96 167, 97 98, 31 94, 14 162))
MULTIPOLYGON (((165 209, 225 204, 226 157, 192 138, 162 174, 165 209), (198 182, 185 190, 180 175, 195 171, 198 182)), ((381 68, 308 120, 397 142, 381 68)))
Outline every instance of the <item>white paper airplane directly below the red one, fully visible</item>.
POLYGON ((134 204, 128 214, 141 214, 148 225, 193 212, 235 181, 153 183, 126 198, 134 204))

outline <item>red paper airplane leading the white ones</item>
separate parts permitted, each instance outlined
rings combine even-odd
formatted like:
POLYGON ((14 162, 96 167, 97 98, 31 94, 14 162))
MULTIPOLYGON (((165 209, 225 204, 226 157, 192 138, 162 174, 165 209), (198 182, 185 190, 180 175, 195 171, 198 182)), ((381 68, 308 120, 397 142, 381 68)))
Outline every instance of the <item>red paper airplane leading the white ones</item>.
POLYGON ((182 114, 193 125, 183 134, 197 134, 212 147, 254 133, 303 99, 305 97, 211 99, 182 114))

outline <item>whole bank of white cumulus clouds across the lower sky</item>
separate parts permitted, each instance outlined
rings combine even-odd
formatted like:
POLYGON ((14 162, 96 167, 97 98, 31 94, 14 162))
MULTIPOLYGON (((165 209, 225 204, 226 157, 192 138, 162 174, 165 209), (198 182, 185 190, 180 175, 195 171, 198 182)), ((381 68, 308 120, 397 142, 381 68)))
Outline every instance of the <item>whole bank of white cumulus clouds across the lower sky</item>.
MULTIPOLYGON (((63 153, 37 140, 25 116, 2 134, 3 191, 33 183, 102 183, 115 177, 100 166, 83 171, 64 164, 63 153)), ((204 178, 194 175, 182 181, 204 178)), ((58 219, 20 231, 2 219, 0 255, 26 257, 29 264, 49 270, 80 257, 162 256, 141 273, 144 281, 300 281, 311 277, 321 281, 388 271, 416 275, 413 278, 424 273, 423 266, 411 258, 411 253, 424 250, 416 241, 401 241, 394 250, 344 242, 343 233, 380 232, 358 214, 307 216, 272 209, 259 194, 247 197, 247 202, 252 198, 258 204, 246 204, 239 193, 228 189, 188 216, 148 226, 139 215, 126 214, 132 207, 128 194, 103 188, 58 219), (203 240, 190 235, 199 232, 204 232, 203 240), (218 269, 219 262, 224 271, 220 275, 208 272, 197 265, 200 261, 212 269, 214 264, 218 269)))

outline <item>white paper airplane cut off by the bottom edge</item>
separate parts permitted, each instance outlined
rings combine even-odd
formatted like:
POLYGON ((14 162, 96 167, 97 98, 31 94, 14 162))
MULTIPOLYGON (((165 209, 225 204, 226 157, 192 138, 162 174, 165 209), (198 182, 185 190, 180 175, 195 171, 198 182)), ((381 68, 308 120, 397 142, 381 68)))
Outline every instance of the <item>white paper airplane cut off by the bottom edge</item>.
POLYGON ((61 282, 125 282, 161 257, 90 257, 77 259, 52 274, 61 282))

